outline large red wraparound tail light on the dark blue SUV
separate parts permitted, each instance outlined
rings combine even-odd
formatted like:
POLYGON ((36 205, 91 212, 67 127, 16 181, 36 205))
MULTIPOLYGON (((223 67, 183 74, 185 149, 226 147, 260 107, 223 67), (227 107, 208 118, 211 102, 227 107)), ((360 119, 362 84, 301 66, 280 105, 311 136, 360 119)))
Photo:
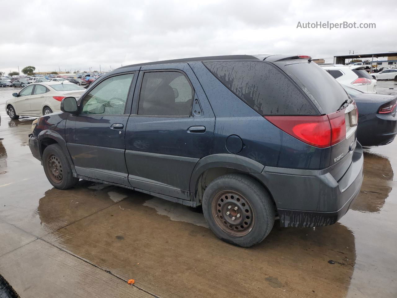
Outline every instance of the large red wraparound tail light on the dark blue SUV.
POLYGON ((318 148, 335 145, 346 138, 344 110, 322 116, 264 116, 289 135, 318 148))

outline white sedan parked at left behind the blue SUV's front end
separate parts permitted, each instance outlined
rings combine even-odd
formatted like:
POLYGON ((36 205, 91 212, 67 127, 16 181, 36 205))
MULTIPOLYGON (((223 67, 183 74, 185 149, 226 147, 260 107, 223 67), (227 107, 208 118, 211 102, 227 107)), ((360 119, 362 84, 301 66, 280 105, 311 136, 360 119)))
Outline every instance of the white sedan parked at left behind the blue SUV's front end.
POLYGON ((6 112, 11 119, 58 112, 62 99, 68 96, 77 99, 84 91, 83 87, 68 81, 29 84, 6 101, 6 112))

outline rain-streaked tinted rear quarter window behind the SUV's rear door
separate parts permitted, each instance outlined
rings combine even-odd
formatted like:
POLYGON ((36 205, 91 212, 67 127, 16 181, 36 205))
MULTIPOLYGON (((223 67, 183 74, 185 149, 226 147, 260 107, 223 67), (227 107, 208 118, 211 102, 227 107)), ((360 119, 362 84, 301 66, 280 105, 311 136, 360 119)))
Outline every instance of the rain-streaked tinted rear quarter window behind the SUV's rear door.
POLYGON ((318 114, 295 85, 264 62, 203 62, 229 90, 264 115, 318 114))

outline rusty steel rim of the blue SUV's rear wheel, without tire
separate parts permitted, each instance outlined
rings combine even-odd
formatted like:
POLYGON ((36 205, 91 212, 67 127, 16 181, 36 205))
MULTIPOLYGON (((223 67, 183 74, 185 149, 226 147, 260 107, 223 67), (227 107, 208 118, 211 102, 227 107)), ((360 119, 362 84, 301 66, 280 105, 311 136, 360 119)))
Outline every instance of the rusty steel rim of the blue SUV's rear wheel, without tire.
POLYGON ((231 236, 247 235, 255 223, 255 214, 248 199, 232 190, 216 194, 211 211, 218 227, 231 236))

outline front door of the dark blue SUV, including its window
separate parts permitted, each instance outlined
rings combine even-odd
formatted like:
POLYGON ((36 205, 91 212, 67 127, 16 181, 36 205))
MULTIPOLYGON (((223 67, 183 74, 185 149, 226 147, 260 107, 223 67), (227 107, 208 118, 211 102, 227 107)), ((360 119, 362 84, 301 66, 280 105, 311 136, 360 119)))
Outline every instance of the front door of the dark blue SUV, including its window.
POLYGON ((77 116, 68 116, 67 149, 77 174, 129 186, 124 138, 135 82, 134 71, 102 79, 79 100, 77 116))

